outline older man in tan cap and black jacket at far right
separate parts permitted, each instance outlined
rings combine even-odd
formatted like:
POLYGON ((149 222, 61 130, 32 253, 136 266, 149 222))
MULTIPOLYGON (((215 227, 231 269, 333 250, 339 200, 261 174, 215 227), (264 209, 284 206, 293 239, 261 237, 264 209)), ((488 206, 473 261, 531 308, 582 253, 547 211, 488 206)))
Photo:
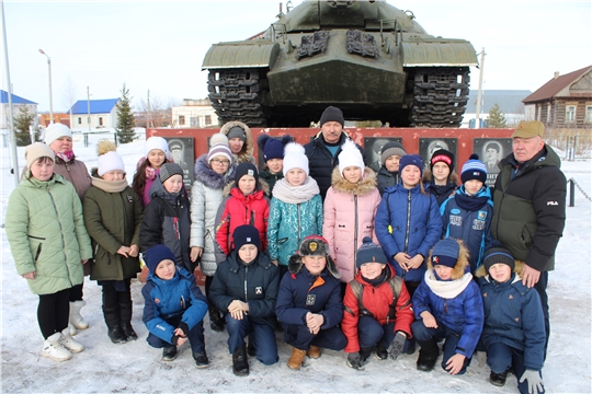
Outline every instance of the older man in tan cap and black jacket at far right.
POLYGON ((540 296, 549 341, 548 271, 566 222, 566 177, 561 161, 543 140, 545 126, 521 121, 512 153, 500 162, 493 192, 491 234, 525 262, 522 282, 540 296))

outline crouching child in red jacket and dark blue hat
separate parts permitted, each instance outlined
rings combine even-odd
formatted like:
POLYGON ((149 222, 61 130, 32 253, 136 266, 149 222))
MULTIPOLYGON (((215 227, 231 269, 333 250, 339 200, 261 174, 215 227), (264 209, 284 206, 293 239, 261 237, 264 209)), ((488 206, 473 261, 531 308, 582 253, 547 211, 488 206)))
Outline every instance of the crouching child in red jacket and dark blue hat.
POLYGON ((376 357, 397 359, 411 338, 411 298, 383 248, 364 237, 356 255, 357 275, 348 283, 341 327, 348 338, 348 366, 363 370, 376 347, 376 357))

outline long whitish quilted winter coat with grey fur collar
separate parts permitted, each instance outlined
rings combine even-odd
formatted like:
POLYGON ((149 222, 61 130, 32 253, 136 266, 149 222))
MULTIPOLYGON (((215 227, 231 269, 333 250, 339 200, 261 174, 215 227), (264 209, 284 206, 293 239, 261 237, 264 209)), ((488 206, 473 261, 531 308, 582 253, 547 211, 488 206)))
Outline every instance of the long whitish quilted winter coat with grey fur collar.
POLYGON ((190 246, 203 247, 201 268, 209 277, 216 273, 216 213, 223 200, 224 187, 234 179, 236 165, 217 174, 207 163, 207 154, 195 162, 195 183, 191 189, 190 246))

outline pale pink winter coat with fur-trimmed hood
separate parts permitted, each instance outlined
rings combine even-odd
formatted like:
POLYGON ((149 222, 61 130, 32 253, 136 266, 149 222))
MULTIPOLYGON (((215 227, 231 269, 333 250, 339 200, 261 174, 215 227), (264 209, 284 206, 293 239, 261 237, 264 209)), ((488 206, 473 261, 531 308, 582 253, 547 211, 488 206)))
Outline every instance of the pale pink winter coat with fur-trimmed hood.
POLYGON ((369 167, 357 184, 346 181, 339 167, 333 171, 333 185, 325 199, 322 234, 329 242, 331 257, 335 259, 342 282, 355 276, 355 255, 364 236, 377 243, 374 218, 380 204, 376 177, 369 167))

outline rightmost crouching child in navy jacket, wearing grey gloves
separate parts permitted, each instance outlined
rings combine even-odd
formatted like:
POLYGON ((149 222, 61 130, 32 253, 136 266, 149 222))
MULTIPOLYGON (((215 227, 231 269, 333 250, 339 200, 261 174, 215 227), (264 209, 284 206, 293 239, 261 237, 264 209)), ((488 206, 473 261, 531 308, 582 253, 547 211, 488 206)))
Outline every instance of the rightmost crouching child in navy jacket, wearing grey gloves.
POLYGON ((522 283, 523 267, 505 248, 486 252, 477 271, 485 306, 481 339, 491 384, 503 386, 512 369, 521 393, 544 393, 545 321, 538 293, 522 283))

